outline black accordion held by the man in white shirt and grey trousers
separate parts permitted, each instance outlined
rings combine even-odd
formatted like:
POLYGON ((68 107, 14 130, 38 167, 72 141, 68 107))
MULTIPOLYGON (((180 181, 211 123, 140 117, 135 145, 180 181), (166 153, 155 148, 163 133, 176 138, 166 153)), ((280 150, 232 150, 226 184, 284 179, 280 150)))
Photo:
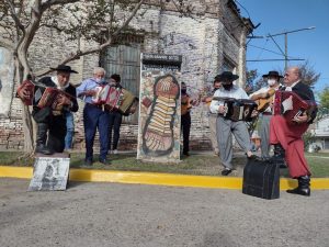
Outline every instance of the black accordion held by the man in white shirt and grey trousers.
POLYGON ((252 121, 251 113, 257 109, 257 103, 253 100, 234 98, 224 98, 224 105, 227 111, 223 114, 225 119, 231 121, 252 121))

